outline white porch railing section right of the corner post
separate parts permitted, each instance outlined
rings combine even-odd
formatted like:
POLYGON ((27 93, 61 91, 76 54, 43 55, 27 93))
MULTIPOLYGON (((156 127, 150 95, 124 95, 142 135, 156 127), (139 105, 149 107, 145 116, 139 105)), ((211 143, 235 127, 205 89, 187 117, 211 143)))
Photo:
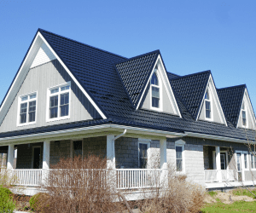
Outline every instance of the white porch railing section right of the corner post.
POLYGON ((160 169, 117 169, 117 188, 147 188, 160 187, 160 169))

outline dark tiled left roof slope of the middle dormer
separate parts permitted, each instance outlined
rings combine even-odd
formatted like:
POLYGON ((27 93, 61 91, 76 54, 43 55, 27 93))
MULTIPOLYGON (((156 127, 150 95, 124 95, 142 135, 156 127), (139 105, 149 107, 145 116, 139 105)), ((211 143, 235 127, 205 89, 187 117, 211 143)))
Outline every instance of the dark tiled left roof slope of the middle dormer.
POLYGON ((171 78, 172 89, 180 97, 189 113, 196 120, 201 109, 201 101, 207 88, 210 71, 171 78))

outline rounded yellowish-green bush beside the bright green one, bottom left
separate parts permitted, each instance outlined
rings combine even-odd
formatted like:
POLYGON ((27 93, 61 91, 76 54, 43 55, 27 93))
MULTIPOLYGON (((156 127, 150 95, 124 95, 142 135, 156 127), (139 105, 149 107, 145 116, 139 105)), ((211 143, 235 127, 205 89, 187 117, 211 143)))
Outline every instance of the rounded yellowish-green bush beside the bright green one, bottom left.
POLYGON ((47 207, 47 204, 45 203, 47 199, 49 199, 48 193, 37 193, 29 200, 30 207, 32 210, 41 210, 44 212, 44 209, 47 207))

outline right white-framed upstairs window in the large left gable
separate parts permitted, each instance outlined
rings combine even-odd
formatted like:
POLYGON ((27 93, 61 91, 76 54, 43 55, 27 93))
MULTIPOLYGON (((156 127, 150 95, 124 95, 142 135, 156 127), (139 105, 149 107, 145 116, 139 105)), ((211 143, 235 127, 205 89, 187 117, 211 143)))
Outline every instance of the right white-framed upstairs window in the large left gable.
POLYGON ((48 91, 47 121, 69 118, 70 116, 70 83, 50 88, 48 91))

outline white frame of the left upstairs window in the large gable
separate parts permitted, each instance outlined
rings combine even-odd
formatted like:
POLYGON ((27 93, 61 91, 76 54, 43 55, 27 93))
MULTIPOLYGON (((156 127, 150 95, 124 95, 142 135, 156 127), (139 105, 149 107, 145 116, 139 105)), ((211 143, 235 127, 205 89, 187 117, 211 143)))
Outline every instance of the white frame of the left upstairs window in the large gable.
POLYGON ((24 95, 20 95, 19 98, 18 98, 18 109, 17 109, 17 122, 16 122, 16 126, 17 127, 20 127, 20 126, 27 126, 27 125, 32 125, 32 124, 37 124, 37 119, 38 119, 38 91, 34 91, 34 92, 31 92, 31 93, 27 93, 27 94, 24 94, 24 95), (26 120, 28 119, 28 110, 29 110, 29 102, 30 100, 28 99, 27 101, 21 101, 21 98, 24 97, 24 96, 28 96, 29 95, 37 95, 36 98, 32 99, 32 101, 36 101, 36 113, 35 113, 35 121, 33 122, 26 122, 24 124, 20 124, 20 104, 21 102, 22 103, 27 103, 27 111, 26 111, 26 120))

